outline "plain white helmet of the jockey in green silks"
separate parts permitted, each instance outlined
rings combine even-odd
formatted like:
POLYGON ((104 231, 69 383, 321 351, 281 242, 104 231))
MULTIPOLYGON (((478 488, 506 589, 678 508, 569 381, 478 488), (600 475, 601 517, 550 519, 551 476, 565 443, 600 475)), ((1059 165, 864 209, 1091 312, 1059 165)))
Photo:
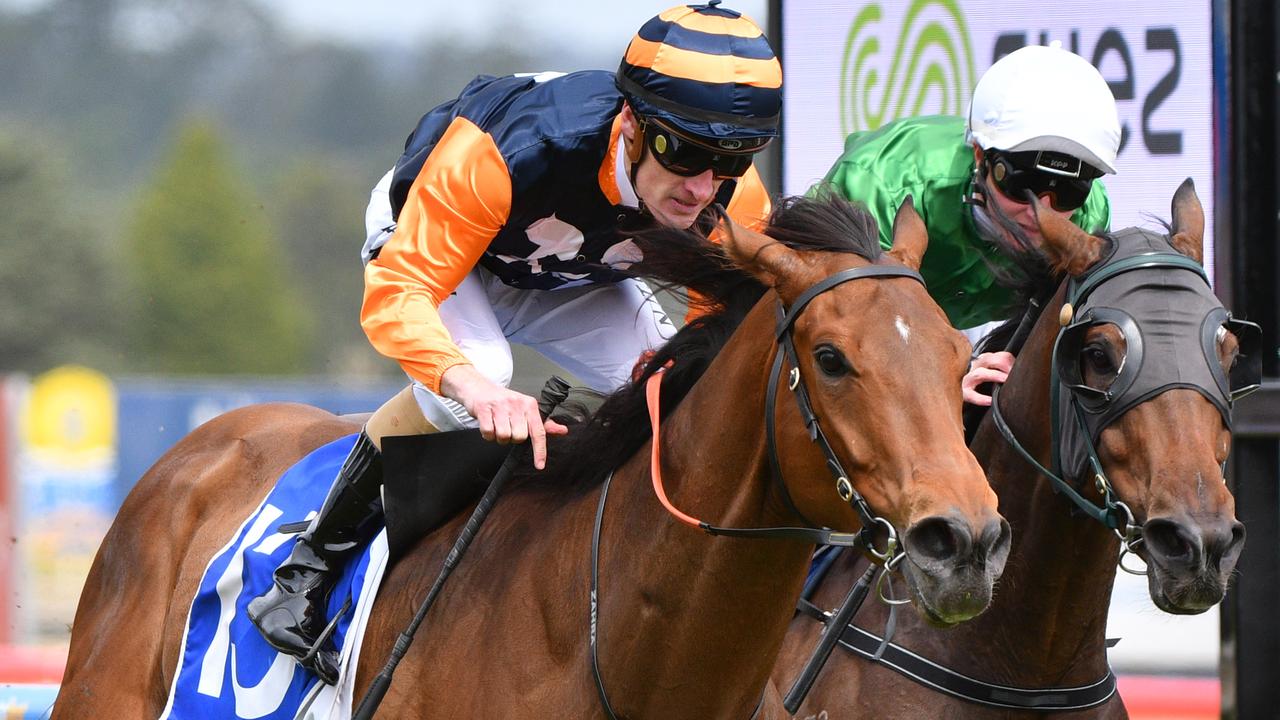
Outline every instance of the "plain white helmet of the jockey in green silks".
POLYGON ((1059 42, 1028 45, 978 79, 965 138, 983 150, 1066 152, 1111 174, 1120 117, 1107 81, 1088 60, 1059 42))

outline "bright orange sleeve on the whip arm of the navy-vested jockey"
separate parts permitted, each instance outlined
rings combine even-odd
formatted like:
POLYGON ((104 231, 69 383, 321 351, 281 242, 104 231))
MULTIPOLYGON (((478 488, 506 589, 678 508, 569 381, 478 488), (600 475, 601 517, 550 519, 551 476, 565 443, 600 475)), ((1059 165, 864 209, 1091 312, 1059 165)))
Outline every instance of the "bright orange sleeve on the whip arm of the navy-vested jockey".
POLYGON ((440 302, 509 215, 511 174, 498 146, 456 118, 410 187, 394 234, 365 265, 365 334, 431 392, 445 370, 470 363, 440 320, 440 302))

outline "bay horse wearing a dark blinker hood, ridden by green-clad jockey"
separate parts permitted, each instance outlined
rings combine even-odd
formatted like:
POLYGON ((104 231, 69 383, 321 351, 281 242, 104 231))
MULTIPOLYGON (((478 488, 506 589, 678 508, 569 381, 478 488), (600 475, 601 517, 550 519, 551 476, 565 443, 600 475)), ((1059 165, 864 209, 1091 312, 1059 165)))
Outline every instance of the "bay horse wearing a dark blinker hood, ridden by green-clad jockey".
MULTIPOLYGON (((1004 719, 1043 715, 1055 705, 1078 707, 1055 712, 1059 717, 1126 717, 1105 637, 1117 552, 1146 561, 1151 598, 1166 612, 1203 612, 1226 592, 1244 528, 1222 477, 1231 395, 1215 386, 1225 386, 1238 360, 1257 359, 1240 354, 1249 324, 1230 319, 1198 269, 1204 215, 1190 181, 1174 195, 1167 236, 1130 229, 1094 237, 1051 213, 1039 213, 1039 222, 1042 250, 1065 281, 1034 325, 1025 320, 1030 334, 1000 388, 1000 416, 988 413, 970 445, 1014 528, 992 606, 945 632, 900 618, 892 635, 899 647, 884 652, 886 662, 872 662, 888 610, 868 602, 854 623, 865 633, 842 635, 844 650, 861 650, 833 653, 796 717, 1004 719), (1083 314, 1075 295, 1075 306, 1066 302, 1082 288, 1093 288, 1083 314), (1194 322, 1178 309, 1194 309, 1188 318, 1194 322), (1148 377, 1148 368, 1165 377, 1148 377), (1202 382, 1211 374, 1217 379, 1202 382), (1055 375, 1062 386, 1057 398, 1055 375), (1114 420, 1094 438, 1096 452, 1082 450, 1089 432, 1071 428, 1075 419, 1059 415, 1055 400, 1061 409, 1079 404, 1088 423, 1114 420), (1056 489, 1015 441, 1071 487, 1056 489), (1073 503, 1068 489, 1089 505, 1073 503), (945 676, 908 653, 975 683, 945 676), (918 674, 920 684, 905 673, 918 674), (959 700, 952 691, 991 702, 959 700)), ((1015 318, 1006 332, 1016 324, 1015 318)), ((1102 425, 1089 429, 1096 427, 1102 425)), ((817 606, 831 607, 861 573, 845 555, 815 594, 817 606)), ((1129 569, 1132 561, 1121 555, 1120 562, 1129 569)), ((799 673, 820 628, 805 615, 792 623, 774 670, 780 685, 799 673)))

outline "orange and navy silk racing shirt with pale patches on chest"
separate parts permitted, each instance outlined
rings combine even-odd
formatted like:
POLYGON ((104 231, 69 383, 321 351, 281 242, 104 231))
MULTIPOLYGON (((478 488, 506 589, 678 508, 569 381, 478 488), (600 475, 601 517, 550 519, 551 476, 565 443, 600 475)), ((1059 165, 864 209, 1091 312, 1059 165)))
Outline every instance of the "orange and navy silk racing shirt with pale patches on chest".
MULTIPOLYGON (((394 232, 375 228, 365 249, 361 320, 430 391, 467 363, 435 309, 474 266, 515 288, 556 290, 616 283, 640 259, 618 234, 641 210, 617 85, 600 70, 481 77, 410 136, 389 183, 394 232)), ((714 201, 742 224, 769 213, 750 165, 714 201)))

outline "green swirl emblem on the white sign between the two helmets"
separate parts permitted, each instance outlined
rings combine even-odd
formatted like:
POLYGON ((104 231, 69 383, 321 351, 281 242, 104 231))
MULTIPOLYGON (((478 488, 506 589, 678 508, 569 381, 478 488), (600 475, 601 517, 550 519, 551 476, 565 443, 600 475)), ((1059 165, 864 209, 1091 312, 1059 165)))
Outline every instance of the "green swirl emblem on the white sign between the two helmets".
POLYGON ((957 0, 913 0, 888 74, 882 81, 879 4, 863 8, 845 40, 840 68, 840 126, 844 135, 925 111, 961 115, 973 88, 973 47, 957 0), (937 102, 931 102, 931 99, 937 102), (929 102, 929 108, 925 108, 929 102))

